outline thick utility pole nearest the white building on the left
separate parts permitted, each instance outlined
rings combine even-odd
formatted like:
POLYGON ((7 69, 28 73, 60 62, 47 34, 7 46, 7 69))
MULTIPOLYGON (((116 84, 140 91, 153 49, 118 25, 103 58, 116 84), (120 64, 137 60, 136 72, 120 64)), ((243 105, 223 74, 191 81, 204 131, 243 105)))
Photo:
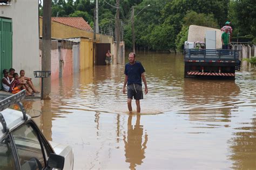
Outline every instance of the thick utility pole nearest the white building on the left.
MULTIPOLYGON (((43 40, 42 40, 42 71, 51 70, 51 1, 44 0, 43 7, 43 40)), ((50 99, 51 77, 44 78, 43 99, 50 99)), ((42 91, 41 91, 42 93, 42 91)))

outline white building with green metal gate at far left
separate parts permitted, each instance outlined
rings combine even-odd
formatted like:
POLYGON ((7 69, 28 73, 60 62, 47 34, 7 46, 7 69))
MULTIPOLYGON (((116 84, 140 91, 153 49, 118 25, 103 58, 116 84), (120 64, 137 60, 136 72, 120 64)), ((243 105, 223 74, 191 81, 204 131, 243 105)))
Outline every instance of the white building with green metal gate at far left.
MULTIPOLYGON (((33 77, 39 66, 38 0, 0 1, 0 70, 24 69, 33 77)), ((39 84, 39 79, 34 79, 39 84)), ((1 86, 1 85, 0 85, 1 86)))

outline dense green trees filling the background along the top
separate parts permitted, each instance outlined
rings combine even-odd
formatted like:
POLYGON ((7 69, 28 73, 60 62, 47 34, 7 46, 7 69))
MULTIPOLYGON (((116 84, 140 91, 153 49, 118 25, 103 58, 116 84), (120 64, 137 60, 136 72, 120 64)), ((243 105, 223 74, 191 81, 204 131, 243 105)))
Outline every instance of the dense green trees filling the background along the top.
MULTIPOLYGON (((99 27, 115 29, 116 0, 98 0, 99 27)), ((220 28, 231 21, 233 38, 256 42, 256 1, 251 0, 122 0, 120 21, 124 23, 125 47, 132 48, 131 9, 137 48, 182 49, 188 26, 220 28), (151 6, 147 6, 147 5, 151 6), (138 14, 139 13, 139 14, 138 14), (138 15, 137 15, 138 14, 138 15)), ((39 6, 42 16, 42 6, 39 6)), ((83 17, 93 27, 95 1, 52 0, 52 16, 83 17)), ((121 31, 122 32, 122 31, 121 31)))

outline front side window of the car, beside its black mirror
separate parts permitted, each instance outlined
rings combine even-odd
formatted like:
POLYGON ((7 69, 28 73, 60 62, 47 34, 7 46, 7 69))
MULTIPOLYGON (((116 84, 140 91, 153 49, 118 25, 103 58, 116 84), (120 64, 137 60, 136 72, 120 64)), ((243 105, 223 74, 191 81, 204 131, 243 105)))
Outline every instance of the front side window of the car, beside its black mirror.
POLYGON ((18 151, 19 161, 22 169, 42 169, 45 167, 45 148, 41 148, 37 132, 31 124, 25 124, 12 132, 18 151))

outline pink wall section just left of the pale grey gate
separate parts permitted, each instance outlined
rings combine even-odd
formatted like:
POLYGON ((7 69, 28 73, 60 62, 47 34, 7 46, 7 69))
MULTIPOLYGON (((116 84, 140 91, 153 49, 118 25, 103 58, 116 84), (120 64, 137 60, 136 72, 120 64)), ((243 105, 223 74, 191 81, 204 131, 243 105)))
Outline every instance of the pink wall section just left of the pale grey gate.
POLYGON ((62 77, 72 75, 73 74, 72 49, 62 48, 60 53, 61 53, 61 59, 64 61, 62 63, 62 77))

